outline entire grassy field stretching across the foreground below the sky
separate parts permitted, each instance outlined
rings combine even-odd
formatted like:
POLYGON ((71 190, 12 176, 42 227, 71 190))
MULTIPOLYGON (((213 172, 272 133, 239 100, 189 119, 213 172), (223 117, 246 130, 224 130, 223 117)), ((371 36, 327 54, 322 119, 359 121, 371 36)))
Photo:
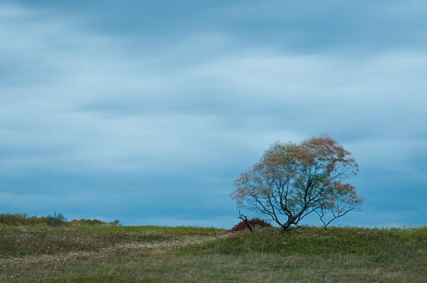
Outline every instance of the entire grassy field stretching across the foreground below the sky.
POLYGON ((426 282, 427 228, 0 226, 0 282, 426 282))

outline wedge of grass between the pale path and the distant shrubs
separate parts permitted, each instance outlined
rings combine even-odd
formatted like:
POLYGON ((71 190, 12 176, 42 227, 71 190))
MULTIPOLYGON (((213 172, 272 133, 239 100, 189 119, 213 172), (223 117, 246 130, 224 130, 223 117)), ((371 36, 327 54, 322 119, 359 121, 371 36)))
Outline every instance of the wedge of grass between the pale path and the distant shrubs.
POLYGON ((211 235, 211 228, 158 226, 0 226, 0 259, 60 252, 96 251, 102 247, 176 240, 185 236, 211 235))

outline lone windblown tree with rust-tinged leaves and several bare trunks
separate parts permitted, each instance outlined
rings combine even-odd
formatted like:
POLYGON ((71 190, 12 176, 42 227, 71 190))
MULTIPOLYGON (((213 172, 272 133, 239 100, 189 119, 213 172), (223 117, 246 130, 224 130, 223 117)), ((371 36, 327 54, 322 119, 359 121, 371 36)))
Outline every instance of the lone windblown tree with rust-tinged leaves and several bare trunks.
POLYGON ((236 179, 231 197, 239 207, 266 215, 284 230, 310 213, 324 228, 363 198, 345 180, 358 166, 351 153, 331 137, 312 137, 300 144, 275 143, 251 170, 236 179))

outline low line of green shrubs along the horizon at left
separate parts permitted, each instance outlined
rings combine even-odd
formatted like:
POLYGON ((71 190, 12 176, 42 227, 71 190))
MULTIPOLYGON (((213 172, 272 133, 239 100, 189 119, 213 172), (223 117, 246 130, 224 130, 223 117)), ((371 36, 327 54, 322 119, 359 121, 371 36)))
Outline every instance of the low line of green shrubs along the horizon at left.
POLYGON ((97 219, 74 219, 67 221, 62 213, 53 213, 48 216, 30 216, 27 213, 0 213, 0 225, 8 226, 38 226, 48 225, 50 227, 58 226, 122 226, 120 220, 105 222, 97 219))

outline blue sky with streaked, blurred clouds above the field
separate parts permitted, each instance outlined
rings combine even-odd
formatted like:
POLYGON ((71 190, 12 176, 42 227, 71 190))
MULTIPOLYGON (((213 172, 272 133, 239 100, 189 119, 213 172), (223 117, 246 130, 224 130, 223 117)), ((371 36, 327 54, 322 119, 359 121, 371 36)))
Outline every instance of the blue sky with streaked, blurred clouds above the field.
POLYGON ((230 228, 240 173, 327 133, 365 198, 337 225, 426 225, 426 27, 411 0, 1 1, 0 210, 230 228))

